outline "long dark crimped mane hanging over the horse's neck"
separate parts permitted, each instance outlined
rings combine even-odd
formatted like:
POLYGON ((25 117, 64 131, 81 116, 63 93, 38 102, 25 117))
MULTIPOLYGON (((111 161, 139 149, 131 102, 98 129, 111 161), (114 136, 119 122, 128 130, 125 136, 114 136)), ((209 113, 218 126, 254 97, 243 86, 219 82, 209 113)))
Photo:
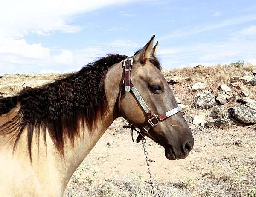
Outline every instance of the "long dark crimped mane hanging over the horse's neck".
POLYGON ((13 133, 17 142, 27 128, 27 144, 31 158, 33 134, 39 142, 40 132, 46 142, 46 129, 57 150, 64 154, 64 136, 73 143, 79 134, 79 127, 86 123, 92 133, 96 122, 104 118, 108 110, 105 95, 105 76, 113 64, 127 56, 108 54, 94 63, 87 64, 80 71, 41 86, 26 88, 14 97, 0 97, 0 115, 8 113, 20 103, 17 115, 0 126, 0 135, 13 133))

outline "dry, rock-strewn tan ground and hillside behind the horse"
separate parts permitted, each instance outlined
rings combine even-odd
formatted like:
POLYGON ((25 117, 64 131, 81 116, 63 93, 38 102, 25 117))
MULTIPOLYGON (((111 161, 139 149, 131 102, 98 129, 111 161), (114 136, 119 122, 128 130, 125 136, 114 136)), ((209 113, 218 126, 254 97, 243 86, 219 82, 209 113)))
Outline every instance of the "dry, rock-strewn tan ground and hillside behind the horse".
MULTIPOLYGON (((256 197, 256 67, 213 66, 163 71, 195 138, 185 160, 167 160, 147 139, 157 194, 164 197, 256 197)), ((0 95, 59 75, 0 76, 0 95)), ((67 197, 152 196, 140 143, 116 120, 68 184, 67 197)))

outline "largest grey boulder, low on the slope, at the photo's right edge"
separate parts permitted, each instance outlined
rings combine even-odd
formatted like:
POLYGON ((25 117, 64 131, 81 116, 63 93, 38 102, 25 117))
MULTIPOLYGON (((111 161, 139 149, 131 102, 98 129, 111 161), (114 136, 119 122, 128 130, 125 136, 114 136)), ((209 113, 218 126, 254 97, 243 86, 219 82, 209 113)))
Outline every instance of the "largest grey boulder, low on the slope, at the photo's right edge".
POLYGON ((230 117, 242 123, 256 123, 256 109, 247 106, 233 106, 229 109, 230 117))

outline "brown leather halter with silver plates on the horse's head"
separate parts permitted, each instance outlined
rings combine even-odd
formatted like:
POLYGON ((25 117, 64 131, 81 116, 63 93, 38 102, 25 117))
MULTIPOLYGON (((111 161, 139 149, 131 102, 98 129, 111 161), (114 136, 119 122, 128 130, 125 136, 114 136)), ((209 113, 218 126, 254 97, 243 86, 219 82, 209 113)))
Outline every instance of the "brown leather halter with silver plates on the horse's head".
MULTIPOLYGON (((134 96, 136 97, 136 99, 140 103, 140 106, 143 108, 143 110, 145 111, 145 113, 148 116, 148 124, 146 126, 144 126, 142 129, 139 129, 140 131, 138 131, 135 126, 133 126, 131 123, 129 123, 130 126, 131 126, 131 131, 132 131, 132 135, 131 135, 132 140, 134 141, 134 139, 133 139, 133 130, 135 130, 139 134, 136 141, 140 142, 140 140, 142 140, 148 134, 150 128, 154 128, 160 122, 162 122, 163 120, 166 120, 170 116, 173 116, 173 115, 177 114, 182 109, 181 109, 180 106, 177 106, 176 108, 173 108, 170 111, 167 111, 166 113, 164 113, 162 115, 153 114, 150 111, 147 104, 145 103, 145 101, 143 100, 143 98, 141 97, 138 90, 135 88, 135 86, 132 83, 132 80, 131 80, 131 66, 132 66, 132 63, 133 63, 133 57, 127 57, 125 60, 123 60, 123 67, 124 67, 124 71, 125 71, 125 79, 123 80, 123 83, 125 84, 125 92, 127 92, 127 93, 130 92, 130 91, 133 92, 134 96)), ((119 112, 120 112, 120 100, 121 100, 121 94, 122 94, 121 92, 122 92, 122 89, 119 93, 119 102, 118 102, 119 112)))

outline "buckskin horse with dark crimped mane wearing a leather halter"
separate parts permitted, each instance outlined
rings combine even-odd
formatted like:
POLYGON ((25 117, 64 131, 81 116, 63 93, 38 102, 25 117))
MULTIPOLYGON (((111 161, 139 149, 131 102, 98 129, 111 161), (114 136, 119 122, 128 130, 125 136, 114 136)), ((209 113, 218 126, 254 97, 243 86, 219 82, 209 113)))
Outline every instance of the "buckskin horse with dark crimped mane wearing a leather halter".
POLYGON ((63 197, 76 168, 121 116, 140 130, 137 142, 147 136, 167 159, 186 158, 194 139, 153 44, 154 36, 131 57, 108 54, 52 83, 1 97, 1 196, 63 197))

